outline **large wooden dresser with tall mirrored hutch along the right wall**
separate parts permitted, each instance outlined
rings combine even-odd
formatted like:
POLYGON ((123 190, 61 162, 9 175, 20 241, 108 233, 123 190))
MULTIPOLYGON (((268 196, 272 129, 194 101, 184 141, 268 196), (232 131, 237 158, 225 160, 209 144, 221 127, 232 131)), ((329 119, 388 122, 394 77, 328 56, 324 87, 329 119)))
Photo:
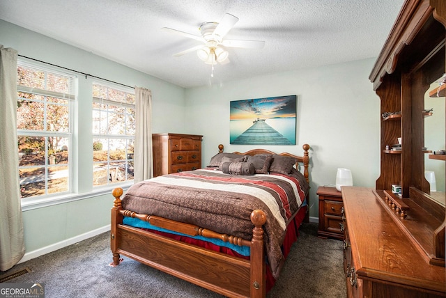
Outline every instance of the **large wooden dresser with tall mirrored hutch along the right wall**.
POLYGON ((406 0, 371 71, 380 100, 380 176, 375 189, 342 189, 348 297, 446 296, 445 191, 434 196, 424 173, 426 155, 445 162, 424 147, 426 118, 443 115, 446 125, 445 111, 424 107, 436 81, 429 95, 444 100, 445 27, 445 0, 406 0), (392 150, 400 137, 401 148, 392 150))

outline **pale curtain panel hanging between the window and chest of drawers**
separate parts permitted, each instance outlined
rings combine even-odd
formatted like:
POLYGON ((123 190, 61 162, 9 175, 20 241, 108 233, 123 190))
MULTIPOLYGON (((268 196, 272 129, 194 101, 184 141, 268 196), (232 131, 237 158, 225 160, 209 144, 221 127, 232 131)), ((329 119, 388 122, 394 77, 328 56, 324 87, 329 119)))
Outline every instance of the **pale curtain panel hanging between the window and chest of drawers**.
POLYGON ((134 136, 134 182, 153 177, 152 162, 152 93, 134 87, 136 131, 134 136))

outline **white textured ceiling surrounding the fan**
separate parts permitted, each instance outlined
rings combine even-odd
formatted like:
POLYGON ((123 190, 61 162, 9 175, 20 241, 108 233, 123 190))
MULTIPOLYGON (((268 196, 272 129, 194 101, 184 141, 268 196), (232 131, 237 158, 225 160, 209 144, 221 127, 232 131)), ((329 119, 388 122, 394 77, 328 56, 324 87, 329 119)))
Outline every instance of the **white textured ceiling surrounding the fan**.
MULTIPOLYGON (((0 0, 0 19, 185 88, 378 56, 403 0, 0 0), (226 65, 191 52, 203 22, 240 20, 228 39, 264 40, 229 48, 226 65)), ((1 43, 1 40, 0 40, 1 43)), ((5 45, 8 46, 8 45, 5 45)), ((62 65, 63 66, 63 65, 62 65)), ((82 71, 82 70, 79 70, 82 71)))

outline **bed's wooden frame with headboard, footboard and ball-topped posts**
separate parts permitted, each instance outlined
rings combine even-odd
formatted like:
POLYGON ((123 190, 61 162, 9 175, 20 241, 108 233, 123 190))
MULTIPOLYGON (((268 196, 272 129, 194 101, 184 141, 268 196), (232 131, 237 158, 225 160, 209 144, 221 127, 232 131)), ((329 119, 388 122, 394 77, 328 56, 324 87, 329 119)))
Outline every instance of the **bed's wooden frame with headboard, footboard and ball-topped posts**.
MULTIPOLYGON (((303 174, 305 179, 309 181, 309 145, 305 144, 302 148, 304 149, 302 157, 290 153, 281 153, 280 155, 294 157, 297 160, 296 166, 303 164, 303 174)), ((219 145, 219 150, 220 152, 223 151, 222 145, 219 145)), ((236 153, 245 155, 275 154, 263 149, 236 153)), ((266 262, 262 228, 266 222, 266 214, 263 211, 252 211, 251 221, 254 228, 252 230, 252 240, 248 241, 240 237, 215 233, 212 230, 192 224, 123 210, 121 206, 122 194, 123 189, 121 188, 113 190, 115 200, 112 208, 110 233, 110 245, 113 253, 112 265, 118 265, 121 262, 120 255, 123 255, 226 297, 266 296, 266 262), (203 235, 204 237, 221 239, 231 244, 250 246, 250 260, 171 240, 139 228, 124 226, 124 216, 135 217, 148 221, 155 226, 186 235, 203 235)), ((307 205, 309 206, 308 199, 307 196, 307 205)), ((308 221, 308 212, 305 215, 305 221, 308 221)))

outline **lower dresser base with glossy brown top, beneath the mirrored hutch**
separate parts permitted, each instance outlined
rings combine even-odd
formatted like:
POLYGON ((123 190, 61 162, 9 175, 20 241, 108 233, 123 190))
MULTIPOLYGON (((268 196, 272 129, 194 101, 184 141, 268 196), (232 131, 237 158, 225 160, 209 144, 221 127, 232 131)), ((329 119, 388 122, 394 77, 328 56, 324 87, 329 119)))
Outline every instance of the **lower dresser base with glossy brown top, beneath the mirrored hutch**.
MULTIPOLYGON (((345 218, 344 270, 348 297, 445 297, 445 267, 429 264, 379 191, 342 187, 345 218)), ((421 211, 420 214, 422 214, 421 211)), ((410 217, 410 215, 409 215, 410 217)), ((444 217, 444 213, 443 213, 444 217)), ((434 224, 435 225, 435 224, 434 224)))

